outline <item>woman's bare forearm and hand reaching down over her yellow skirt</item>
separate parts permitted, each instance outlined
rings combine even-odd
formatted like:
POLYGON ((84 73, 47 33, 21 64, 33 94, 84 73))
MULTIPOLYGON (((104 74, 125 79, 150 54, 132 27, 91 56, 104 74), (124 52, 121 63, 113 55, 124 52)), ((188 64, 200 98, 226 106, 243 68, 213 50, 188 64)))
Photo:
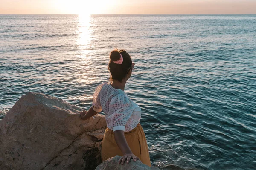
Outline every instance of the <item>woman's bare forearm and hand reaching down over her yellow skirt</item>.
POLYGON ((136 161, 136 159, 140 160, 137 156, 135 156, 132 152, 130 147, 127 144, 127 141, 125 139, 124 131, 122 130, 116 130, 114 131, 114 136, 116 140, 117 146, 120 148, 120 150, 123 153, 123 156, 119 159, 119 164, 124 164, 125 160, 127 160, 127 164, 130 162, 131 158, 136 161))

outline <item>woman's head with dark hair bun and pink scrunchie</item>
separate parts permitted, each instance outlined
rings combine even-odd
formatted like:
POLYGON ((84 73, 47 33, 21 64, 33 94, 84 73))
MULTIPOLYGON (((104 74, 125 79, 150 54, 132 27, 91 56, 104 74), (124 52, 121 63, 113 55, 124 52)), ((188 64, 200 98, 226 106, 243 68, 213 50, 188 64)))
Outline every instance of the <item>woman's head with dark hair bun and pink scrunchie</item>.
POLYGON ((128 80, 128 78, 130 78, 131 76, 131 68, 132 68, 131 56, 125 50, 118 51, 116 49, 110 53, 110 61, 108 63, 108 69, 111 73, 111 78, 110 78, 111 81, 117 80, 119 82, 122 82, 123 79, 128 80), (117 62, 119 59, 120 61, 122 59, 122 63, 120 61, 117 62), (114 61, 116 61, 116 63, 114 61))

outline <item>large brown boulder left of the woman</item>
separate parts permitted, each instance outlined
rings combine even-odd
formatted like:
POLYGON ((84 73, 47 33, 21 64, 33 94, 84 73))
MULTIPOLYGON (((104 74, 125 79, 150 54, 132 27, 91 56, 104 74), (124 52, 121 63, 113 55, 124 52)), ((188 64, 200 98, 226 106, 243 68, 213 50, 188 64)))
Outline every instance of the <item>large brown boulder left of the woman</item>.
POLYGON ((23 95, 0 121, 0 170, 94 170, 101 163, 105 116, 42 93, 23 95))

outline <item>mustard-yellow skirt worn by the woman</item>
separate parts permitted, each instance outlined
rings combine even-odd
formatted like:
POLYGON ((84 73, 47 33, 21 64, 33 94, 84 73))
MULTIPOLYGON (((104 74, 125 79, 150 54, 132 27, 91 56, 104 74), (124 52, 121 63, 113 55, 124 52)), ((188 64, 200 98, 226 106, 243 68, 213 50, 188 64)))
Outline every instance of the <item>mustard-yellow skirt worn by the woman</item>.
MULTIPOLYGON (((145 133, 140 124, 137 125, 130 132, 125 132, 126 141, 134 155, 140 158, 140 161, 143 164, 151 167, 149 153, 148 153, 148 144, 146 141, 145 133)), ((114 132, 111 129, 106 129, 104 138, 102 141, 102 161, 112 158, 116 155, 123 156, 122 151, 116 144, 114 138, 114 132)))

